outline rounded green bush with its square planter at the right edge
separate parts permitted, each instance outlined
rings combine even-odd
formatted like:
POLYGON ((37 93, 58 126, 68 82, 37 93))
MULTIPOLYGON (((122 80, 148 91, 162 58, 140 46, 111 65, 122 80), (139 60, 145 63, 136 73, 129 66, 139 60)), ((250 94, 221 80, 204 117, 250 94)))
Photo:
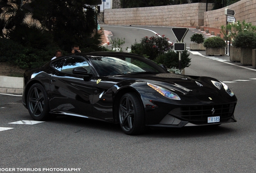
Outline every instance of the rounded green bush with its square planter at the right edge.
MULTIPOLYGON (((233 40, 233 46, 241 48, 241 64, 252 65, 252 51, 256 48, 256 32, 239 32, 233 40)), ((255 53, 254 53, 255 54, 255 53)), ((255 61, 255 56, 254 56, 255 61)))

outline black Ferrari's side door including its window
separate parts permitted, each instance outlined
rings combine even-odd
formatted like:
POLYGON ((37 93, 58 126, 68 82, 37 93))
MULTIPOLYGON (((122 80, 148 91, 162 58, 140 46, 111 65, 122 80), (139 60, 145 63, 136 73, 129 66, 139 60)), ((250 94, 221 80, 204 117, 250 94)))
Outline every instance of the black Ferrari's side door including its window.
POLYGON ((62 68, 53 74, 50 82, 52 98, 51 112, 76 115, 92 115, 93 76, 73 74, 74 68, 83 67, 91 71, 89 62, 81 56, 71 56, 64 60, 62 68))

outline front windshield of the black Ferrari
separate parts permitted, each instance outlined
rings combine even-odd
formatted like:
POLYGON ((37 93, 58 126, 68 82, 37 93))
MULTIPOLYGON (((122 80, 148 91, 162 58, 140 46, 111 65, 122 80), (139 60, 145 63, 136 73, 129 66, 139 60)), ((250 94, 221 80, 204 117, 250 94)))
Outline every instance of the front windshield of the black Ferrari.
POLYGON ((91 57, 91 61, 100 76, 144 72, 159 73, 157 68, 135 58, 91 57))

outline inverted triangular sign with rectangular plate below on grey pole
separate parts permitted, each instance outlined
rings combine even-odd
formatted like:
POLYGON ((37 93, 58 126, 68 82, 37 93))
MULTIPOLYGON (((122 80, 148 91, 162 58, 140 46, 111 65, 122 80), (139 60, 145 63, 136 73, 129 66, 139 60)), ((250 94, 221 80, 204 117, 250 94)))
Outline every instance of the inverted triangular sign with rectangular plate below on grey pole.
POLYGON ((171 28, 171 30, 177 39, 177 43, 174 43, 174 50, 179 53, 179 70, 181 70, 181 52, 186 50, 186 44, 183 42, 183 38, 188 32, 188 28, 171 28))

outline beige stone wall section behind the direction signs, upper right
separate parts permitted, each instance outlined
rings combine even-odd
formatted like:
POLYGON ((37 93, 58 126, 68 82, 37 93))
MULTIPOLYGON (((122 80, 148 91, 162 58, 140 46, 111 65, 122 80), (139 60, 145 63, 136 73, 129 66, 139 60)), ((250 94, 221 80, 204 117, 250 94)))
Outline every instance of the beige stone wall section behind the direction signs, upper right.
MULTIPOLYGON (((226 25, 225 8, 204 12, 204 26, 221 28, 226 25)), ((240 0, 228 6, 228 9, 235 10, 236 22, 245 20, 256 26, 256 0, 240 0)))

